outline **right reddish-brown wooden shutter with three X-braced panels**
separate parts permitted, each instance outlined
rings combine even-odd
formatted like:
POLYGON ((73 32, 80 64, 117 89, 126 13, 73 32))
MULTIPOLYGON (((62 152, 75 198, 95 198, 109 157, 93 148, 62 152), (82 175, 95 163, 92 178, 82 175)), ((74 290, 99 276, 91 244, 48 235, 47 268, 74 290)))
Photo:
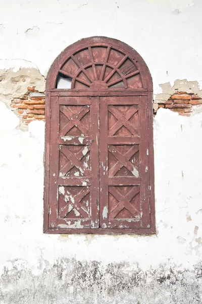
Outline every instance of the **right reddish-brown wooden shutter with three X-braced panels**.
POLYGON ((100 98, 100 226, 149 226, 147 99, 100 98))

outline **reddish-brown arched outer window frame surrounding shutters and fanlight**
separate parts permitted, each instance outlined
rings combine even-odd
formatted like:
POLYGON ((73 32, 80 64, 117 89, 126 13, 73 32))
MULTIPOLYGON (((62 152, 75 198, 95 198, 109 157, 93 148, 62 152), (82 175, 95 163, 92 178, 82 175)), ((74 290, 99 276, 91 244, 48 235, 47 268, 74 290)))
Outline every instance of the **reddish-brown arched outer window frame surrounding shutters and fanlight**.
POLYGON ((44 172, 44 222, 43 232, 47 234, 140 234, 150 235, 155 234, 155 192, 154 192, 154 147, 153 147, 153 91, 152 81, 149 70, 144 63, 143 59, 137 52, 132 50, 129 46, 116 40, 108 39, 105 37, 91 37, 75 43, 74 45, 65 49, 61 55, 55 60, 51 69, 48 72, 46 81, 46 101, 45 101, 45 172, 44 172), (99 42, 99 41, 100 42, 99 42), (127 54, 130 53, 136 58, 141 65, 142 74, 144 77, 143 89, 101 89, 94 90, 76 90, 76 89, 56 89, 58 70, 61 64, 66 60, 69 54, 79 50, 84 46, 93 44, 106 44, 110 43, 116 48, 121 48, 127 54), (136 57, 135 57, 136 56, 136 57), (50 227, 48 224, 49 217, 49 162, 50 162, 50 131, 51 131, 51 103, 53 97, 70 97, 70 96, 88 96, 88 97, 110 97, 110 96, 145 96, 147 98, 147 120, 148 120, 148 145, 149 145, 149 204, 150 204, 150 227, 137 228, 137 229, 72 229, 71 231, 66 228, 50 227))

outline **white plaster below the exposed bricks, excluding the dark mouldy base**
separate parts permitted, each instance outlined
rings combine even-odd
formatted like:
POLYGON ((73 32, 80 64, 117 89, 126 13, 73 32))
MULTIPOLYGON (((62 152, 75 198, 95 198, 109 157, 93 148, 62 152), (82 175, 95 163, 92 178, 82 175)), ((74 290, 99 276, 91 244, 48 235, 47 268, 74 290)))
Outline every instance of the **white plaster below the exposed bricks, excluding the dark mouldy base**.
MULTIPOLYGON (((31 277, 40 276, 47 263, 53 265, 57 259, 75 258, 81 263, 97 261, 103 267, 108 267, 110 263, 128 262, 129 266, 123 268, 126 276, 137 267, 141 272, 150 273, 151 270, 158 271, 161 265, 164 267, 158 274, 160 278, 173 267, 177 269, 176 272, 189 270, 194 273, 202 253, 202 113, 187 118, 160 109, 155 118, 157 235, 62 236, 42 233, 44 124, 32 122, 28 132, 17 130, 19 121, 15 114, 4 103, 0 105, 0 142, 3 147, 0 150, 1 270, 6 267, 9 276, 9 271, 29 269, 31 277)), ((14 292, 19 285, 14 284, 15 279, 12 281, 10 276, 9 287, 6 285, 5 288, 14 292)), ((190 282, 195 282, 194 278, 192 275, 190 282)), ((26 282, 29 280, 27 275, 26 282)), ((154 276, 150 280, 159 279, 154 276)), ((42 283, 46 286, 45 282, 42 283)), ((47 285, 50 283, 51 278, 47 280, 47 285)), ((22 283, 20 288, 25 288, 26 284, 22 283)), ((27 288, 32 292, 30 286, 27 288)), ((156 292, 161 294, 164 303, 169 303, 170 296, 167 301, 164 290, 156 292)), ((195 294, 194 289, 192 292, 195 294)), ((146 294, 148 298, 154 298, 155 303, 162 303, 152 289, 148 289, 146 294)), ((89 293, 89 298, 91 295, 89 293)), ((141 296, 140 293, 137 300, 141 296)), ((118 295, 117 298, 119 303, 118 295)), ((189 303, 186 302, 185 292, 181 291, 180 298, 189 303)), ((191 299, 192 303, 197 303, 192 294, 191 299)), ((202 300, 199 291, 198 299, 202 300)), ((47 304, 66 303, 64 299, 44 300, 47 304)), ((74 302, 77 303, 76 300, 74 302)), ((103 302, 109 302, 108 294, 103 302)), ((11 302, 4 298, 0 303, 11 302)), ((95 300, 95 303, 98 301, 95 300)), ((124 303, 132 301, 128 298, 124 303)), ((142 303, 147 303, 147 300, 144 299, 142 303)))

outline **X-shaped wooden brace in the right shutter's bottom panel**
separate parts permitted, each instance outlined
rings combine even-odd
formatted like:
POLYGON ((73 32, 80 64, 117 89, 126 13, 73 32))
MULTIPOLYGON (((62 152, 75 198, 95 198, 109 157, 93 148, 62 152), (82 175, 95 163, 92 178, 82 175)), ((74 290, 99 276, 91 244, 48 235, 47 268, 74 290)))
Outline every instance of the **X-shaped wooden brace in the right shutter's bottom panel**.
POLYGON ((127 209, 134 217, 139 215, 140 212, 130 203, 130 201, 139 193, 139 186, 134 186, 126 195, 122 195, 117 187, 109 187, 109 192, 119 201, 113 210, 110 211, 110 218, 115 218, 117 214, 127 209))

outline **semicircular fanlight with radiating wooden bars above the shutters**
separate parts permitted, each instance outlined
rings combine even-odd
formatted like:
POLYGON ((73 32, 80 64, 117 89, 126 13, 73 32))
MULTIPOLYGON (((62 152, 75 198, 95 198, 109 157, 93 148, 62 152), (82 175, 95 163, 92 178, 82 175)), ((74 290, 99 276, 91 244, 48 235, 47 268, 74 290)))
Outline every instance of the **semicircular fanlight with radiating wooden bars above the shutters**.
POLYGON ((59 77, 71 84, 71 89, 142 88, 135 59, 112 47, 88 47, 71 55, 59 77))

